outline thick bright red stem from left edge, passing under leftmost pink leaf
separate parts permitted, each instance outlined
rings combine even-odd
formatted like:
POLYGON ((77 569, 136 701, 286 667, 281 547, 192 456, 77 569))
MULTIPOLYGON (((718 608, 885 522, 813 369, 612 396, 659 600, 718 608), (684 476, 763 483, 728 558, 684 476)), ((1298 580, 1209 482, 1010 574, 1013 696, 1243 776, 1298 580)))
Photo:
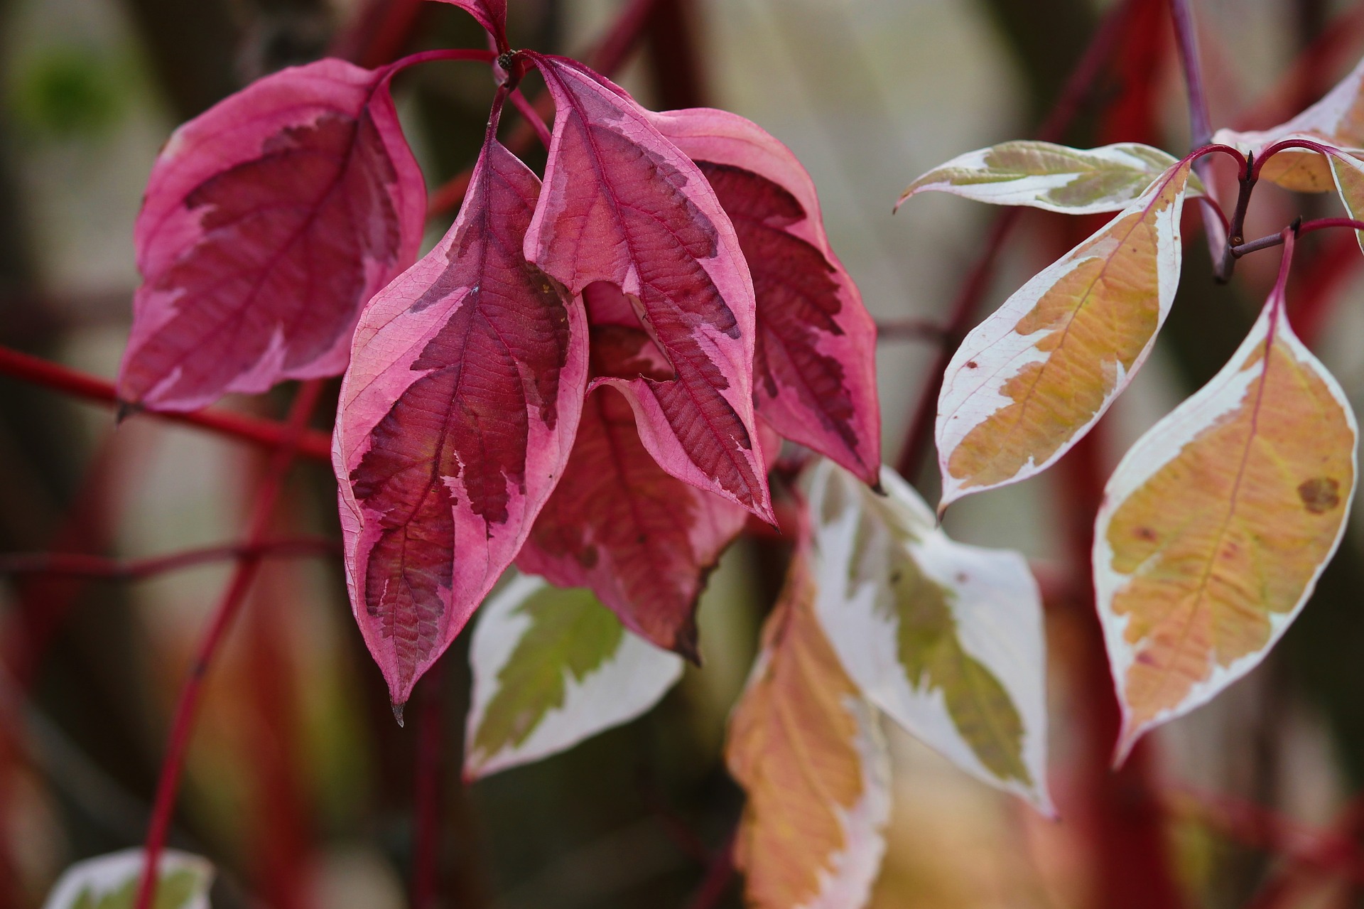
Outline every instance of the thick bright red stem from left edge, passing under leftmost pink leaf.
MULTIPOLYGON (((95 401, 109 407, 121 407, 119 393, 115 389, 113 382, 102 379, 97 375, 90 375, 89 373, 72 370, 61 366, 60 363, 52 363, 37 356, 30 356, 29 354, 20 354, 19 351, 14 351, 7 347, 0 347, 0 375, 10 375, 12 378, 50 388, 56 392, 63 392, 87 401, 95 401)), ((226 435, 229 438, 267 448, 278 448, 286 434, 286 427, 282 423, 263 420, 244 414, 229 414, 228 411, 203 409, 191 411, 188 414, 172 414, 164 411, 136 412, 149 414, 173 423, 198 426, 199 429, 206 429, 220 435, 226 435)), ((331 437, 326 433, 304 430, 300 435, 297 435, 293 445, 295 450, 301 457, 322 461, 331 460, 331 437)))

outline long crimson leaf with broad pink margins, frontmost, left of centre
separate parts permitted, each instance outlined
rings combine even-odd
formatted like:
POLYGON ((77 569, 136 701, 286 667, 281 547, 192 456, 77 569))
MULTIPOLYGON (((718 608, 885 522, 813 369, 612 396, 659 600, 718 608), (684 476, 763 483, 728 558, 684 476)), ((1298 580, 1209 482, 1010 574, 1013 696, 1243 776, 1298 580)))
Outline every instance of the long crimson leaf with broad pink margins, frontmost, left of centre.
POLYGON ((356 329, 333 457, 351 602, 394 703, 516 557, 578 424, 582 307, 522 254, 537 194, 490 138, 450 232, 356 329))

